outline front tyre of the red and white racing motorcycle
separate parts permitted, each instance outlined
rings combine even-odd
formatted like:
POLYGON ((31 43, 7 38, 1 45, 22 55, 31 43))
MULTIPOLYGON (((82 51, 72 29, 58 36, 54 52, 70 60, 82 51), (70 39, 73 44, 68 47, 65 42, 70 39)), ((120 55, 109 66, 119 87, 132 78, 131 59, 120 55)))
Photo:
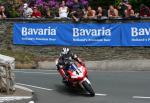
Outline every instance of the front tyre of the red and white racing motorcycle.
POLYGON ((85 88, 86 91, 88 91, 90 93, 90 96, 94 97, 95 96, 95 92, 92 88, 92 86, 87 82, 87 81, 84 81, 82 83, 83 87, 85 88))

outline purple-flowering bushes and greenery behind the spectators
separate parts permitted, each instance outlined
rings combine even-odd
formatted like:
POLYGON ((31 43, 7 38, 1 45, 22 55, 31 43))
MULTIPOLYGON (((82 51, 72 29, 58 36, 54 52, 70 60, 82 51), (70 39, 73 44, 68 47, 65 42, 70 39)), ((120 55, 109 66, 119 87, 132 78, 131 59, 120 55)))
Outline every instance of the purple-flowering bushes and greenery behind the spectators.
MULTIPOLYGON (((16 0, 0 0, 1 3, 6 4, 6 12, 9 18, 20 17, 20 13, 18 9, 20 4, 18 2, 14 2, 16 0)), ((27 2, 29 0, 22 0, 23 2, 27 2)), ((33 2, 33 0, 31 0, 33 2)), ((36 5, 39 6, 39 9, 43 16, 46 16, 46 9, 51 8, 51 13, 53 16, 57 16, 58 6, 61 0, 44 0, 46 2, 38 2, 36 5)), ((109 5, 118 6, 122 0, 80 0, 81 3, 86 7, 87 5, 92 6, 94 9, 97 9, 98 6, 102 6, 104 9, 108 9, 109 5)), ((140 4, 145 4, 150 7, 150 0, 129 0, 129 2, 133 5, 133 9, 136 12, 139 12, 140 4)), ((34 4, 35 2, 33 2, 34 4)), ((67 6, 71 7, 72 0, 67 0, 67 6)), ((29 2, 30 4, 30 2, 29 2)), ((22 4, 21 4, 22 5, 22 4)))

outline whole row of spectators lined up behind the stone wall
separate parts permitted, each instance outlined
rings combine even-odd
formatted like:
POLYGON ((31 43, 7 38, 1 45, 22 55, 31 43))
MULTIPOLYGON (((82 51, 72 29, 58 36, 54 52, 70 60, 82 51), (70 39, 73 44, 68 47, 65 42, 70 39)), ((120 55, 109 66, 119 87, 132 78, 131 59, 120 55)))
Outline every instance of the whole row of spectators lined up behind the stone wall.
POLYGON ((108 9, 101 6, 93 8, 88 4, 88 0, 63 0, 60 3, 56 3, 54 0, 47 0, 47 2, 31 0, 28 3, 22 2, 17 7, 8 2, 0 4, 0 19, 13 17, 72 18, 75 21, 83 18, 136 18, 150 17, 150 8, 141 4, 139 12, 135 12, 128 0, 122 0, 117 7, 110 5, 108 9))

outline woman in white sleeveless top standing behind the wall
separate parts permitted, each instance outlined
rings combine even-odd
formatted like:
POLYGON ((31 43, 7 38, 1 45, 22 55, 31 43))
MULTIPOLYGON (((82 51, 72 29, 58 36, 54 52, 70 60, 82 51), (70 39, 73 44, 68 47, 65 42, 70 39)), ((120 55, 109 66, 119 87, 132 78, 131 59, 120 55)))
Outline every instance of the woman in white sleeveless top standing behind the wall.
POLYGON ((59 17, 60 18, 68 17, 68 7, 65 6, 65 1, 62 1, 62 4, 59 7, 59 17))

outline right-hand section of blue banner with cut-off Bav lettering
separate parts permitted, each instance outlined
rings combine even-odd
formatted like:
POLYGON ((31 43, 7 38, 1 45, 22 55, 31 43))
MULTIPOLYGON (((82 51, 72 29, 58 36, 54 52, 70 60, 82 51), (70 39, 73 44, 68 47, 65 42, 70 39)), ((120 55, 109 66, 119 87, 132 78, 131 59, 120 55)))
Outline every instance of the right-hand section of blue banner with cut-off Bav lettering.
POLYGON ((123 46, 150 46, 150 23, 130 23, 121 26, 123 46))

